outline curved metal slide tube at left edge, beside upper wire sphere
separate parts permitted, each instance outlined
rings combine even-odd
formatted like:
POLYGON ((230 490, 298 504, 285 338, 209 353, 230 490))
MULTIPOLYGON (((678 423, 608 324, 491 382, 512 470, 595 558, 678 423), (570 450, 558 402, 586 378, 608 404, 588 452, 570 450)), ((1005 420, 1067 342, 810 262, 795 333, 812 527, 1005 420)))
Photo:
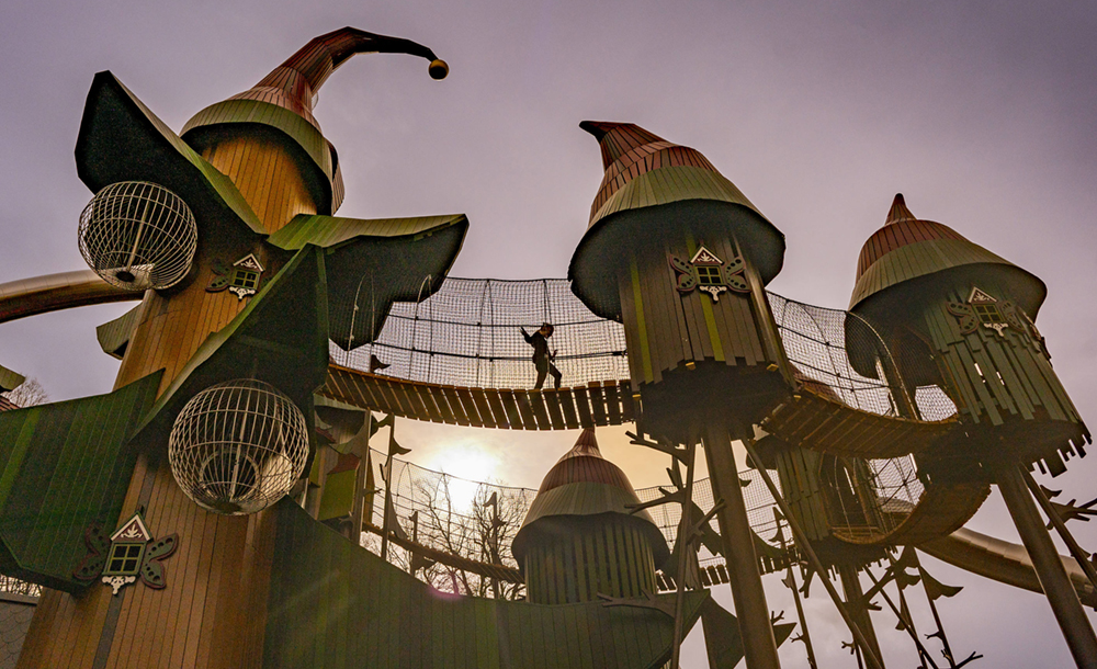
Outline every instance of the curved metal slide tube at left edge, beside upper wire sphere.
POLYGON ((110 302, 137 302, 140 292, 112 286, 91 270, 0 283, 0 322, 110 302))

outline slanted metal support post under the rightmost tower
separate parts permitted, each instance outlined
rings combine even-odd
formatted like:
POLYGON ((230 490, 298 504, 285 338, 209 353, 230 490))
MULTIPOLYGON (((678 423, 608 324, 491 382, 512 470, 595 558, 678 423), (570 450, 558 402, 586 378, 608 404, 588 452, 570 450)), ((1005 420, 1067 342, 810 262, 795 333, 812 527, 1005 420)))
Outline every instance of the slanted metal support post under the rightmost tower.
POLYGON ((1032 558, 1040 587, 1048 596, 1048 602, 1063 631, 1066 645, 1074 656, 1074 662, 1079 669, 1097 669, 1097 636, 1094 635, 1094 628, 1082 609, 1074 585, 1066 576, 1059 551, 1051 543, 1051 535, 1040 520, 1020 467, 1016 465, 1003 467, 997 473, 997 479, 998 489, 1006 500, 1006 508, 1009 509, 1009 515, 1013 517, 1017 532, 1021 535, 1025 549, 1032 558))

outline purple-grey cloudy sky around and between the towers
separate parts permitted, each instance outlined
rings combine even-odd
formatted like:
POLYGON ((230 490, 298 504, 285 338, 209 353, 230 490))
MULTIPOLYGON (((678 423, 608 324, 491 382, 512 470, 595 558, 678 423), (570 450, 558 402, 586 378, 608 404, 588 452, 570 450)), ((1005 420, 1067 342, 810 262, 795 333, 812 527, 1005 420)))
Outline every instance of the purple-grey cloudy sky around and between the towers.
MULTIPOLYGON (((0 283, 84 267, 76 229, 91 193, 72 149, 94 72, 112 70, 178 131, 344 25, 421 42, 450 64, 449 78, 433 81, 421 59, 359 56, 321 89, 316 115, 343 166, 342 215, 467 214, 453 275, 564 276, 602 175, 578 123, 633 122, 704 154, 785 234, 770 288, 790 298, 845 307, 861 245, 896 192, 916 216, 1040 276, 1049 296, 1038 324, 1056 372, 1082 416, 1097 420, 1088 2, 7 0, 0 283)), ((99 351, 94 326, 126 308, 0 325, 0 364, 37 377, 54 399, 106 392, 117 362, 99 351)), ((417 462, 474 462, 479 478, 529 487, 575 439, 399 429, 417 462)), ((620 431, 600 440, 635 486, 665 483, 666 463, 620 431)), ((1040 480, 1085 501, 1097 496, 1095 474, 1090 456, 1040 480)), ((968 526, 1017 541, 997 494, 968 526)), ((1074 530, 1097 548, 1089 525, 1074 530)), ((1071 664, 1040 596, 925 563, 965 587, 941 614, 958 651, 986 656, 972 666, 1071 664)), ((765 582, 770 606, 792 617, 777 578, 765 582)), ((714 593, 731 606, 726 587, 714 593)), ((821 666, 856 666, 821 589, 807 604, 821 666)), ((929 631, 924 608, 915 616, 929 631)), ((889 666, 913 666, 894 621, 874 620, 889 666)), ((703 667, 699 633, 689 644, 685 666, 703 667)), ((799 644, 781 655, 787 667, 806 666, 799 644)))

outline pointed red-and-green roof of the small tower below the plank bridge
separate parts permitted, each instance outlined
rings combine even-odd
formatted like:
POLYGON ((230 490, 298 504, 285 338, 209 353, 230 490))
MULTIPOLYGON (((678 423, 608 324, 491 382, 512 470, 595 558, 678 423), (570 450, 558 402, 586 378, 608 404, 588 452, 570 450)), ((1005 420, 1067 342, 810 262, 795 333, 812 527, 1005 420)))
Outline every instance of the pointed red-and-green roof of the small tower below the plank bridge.
POLYGON ((652 543, 655 564, 661 564, 670 554, 667 542, 647 511, 629 512, 627 506, 637 503, 640 500, 629 477, 602 457, 593 429, 587 428, 579 434, 575 446, 553 465, 541 483, 525 521, 514 536, 514 557, 521 564, 527 543, 536 534, 539 521, 618 514, 640 523, 652 543))

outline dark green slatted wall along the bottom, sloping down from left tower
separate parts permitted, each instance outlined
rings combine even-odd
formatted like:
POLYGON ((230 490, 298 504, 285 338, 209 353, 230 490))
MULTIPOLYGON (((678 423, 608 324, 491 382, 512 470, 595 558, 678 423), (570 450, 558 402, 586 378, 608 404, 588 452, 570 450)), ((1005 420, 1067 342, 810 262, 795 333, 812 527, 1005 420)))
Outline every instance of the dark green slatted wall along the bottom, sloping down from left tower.
MULTIPOLYGON (((283 549, 272 569, 264 669, 623 669, 669 657, 672 621, 656 611, 438 597, 289 500, 276 510, 283 549)), ((687 594, 687 627, 704 599, 687 594)))

